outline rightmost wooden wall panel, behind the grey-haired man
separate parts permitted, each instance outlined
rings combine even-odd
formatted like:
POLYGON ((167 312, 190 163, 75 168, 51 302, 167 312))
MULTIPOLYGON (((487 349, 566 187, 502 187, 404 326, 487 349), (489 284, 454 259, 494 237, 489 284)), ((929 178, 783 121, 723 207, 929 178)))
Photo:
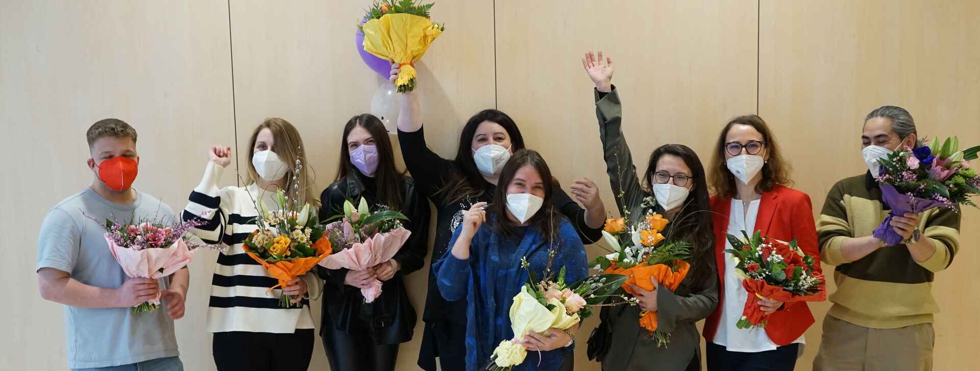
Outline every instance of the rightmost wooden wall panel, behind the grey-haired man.
MULTIPOLYGON (((789 149, 797 188, 809 193, 814 213, 837 180, 865 171, 861 123, 880 106, 907 109, 920 136, 980 143, 977 15, 980 3, 968 0, 761 1, 760 116, 789 149)), ((977 209, 964 209, 959 255, 936 274, 936 370, 973 367, 978 218, 977 209)), ((798 370, 812 365, 830 303, 810 307, 817 324, 798 370)))

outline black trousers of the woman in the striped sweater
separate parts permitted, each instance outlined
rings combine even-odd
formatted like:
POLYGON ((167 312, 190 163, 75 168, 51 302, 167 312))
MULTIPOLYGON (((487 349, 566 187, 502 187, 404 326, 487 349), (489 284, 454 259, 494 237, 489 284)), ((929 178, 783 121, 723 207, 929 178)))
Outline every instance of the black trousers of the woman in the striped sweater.
POLYGON ((219 371, 306 370, 313 356, 313 329, 292 334, 215 333, 212 355, 219 371))

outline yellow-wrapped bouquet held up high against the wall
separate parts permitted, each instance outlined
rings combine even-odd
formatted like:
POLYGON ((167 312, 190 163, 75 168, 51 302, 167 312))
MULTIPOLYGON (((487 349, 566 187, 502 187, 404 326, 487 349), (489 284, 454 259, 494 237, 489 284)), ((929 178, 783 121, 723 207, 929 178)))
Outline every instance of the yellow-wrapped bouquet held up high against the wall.
POLYGON ((416 88, 417 72, 413 64, 445 29, 429 21, 432 5, 417 5, 415 0, 376 1, 368 8, 364 17, 367 21, 358 25, 365 36, 366 52, 401 66, 395 81, 399 93, 416 88))

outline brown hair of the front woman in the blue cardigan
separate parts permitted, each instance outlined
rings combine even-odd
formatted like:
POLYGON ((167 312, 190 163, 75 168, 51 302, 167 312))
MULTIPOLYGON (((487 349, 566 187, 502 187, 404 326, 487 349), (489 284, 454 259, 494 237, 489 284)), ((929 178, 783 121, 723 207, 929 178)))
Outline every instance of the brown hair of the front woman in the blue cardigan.
POLYGON ((538 233, 545 237, 548 245, 554 246, 560 240, 558 226, 564 217, 551 202, 554 193, 552 190, 555 184, 558 184, 558 180, 552 176, 551 169, 548 168, 548 163, 541 157, 541 154, 534 150, 517 151, 511 160, 504 164, 504 168, 500 171, 500 181, 497 182, 497 190, 493 194, 493 202, 487 208, 487 214, 493 215, 493 217, 487 217, 487 226, 494 232, 506 237, 520 235, 518 226, 507 217, 507 188, 514 180, 517 170, 524 165, 529 165, 538 172, 538 175, 541 176, 541 186, 545 191, 541 209, 534 216, 531 216, 527 223, 536 226, 538 233))

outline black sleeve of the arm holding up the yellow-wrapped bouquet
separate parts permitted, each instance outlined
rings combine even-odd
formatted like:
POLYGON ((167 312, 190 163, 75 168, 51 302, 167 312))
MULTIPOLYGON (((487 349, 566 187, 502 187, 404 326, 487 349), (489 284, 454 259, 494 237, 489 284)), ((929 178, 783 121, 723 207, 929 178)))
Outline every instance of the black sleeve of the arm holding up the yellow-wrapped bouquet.
POLYGON ((418 193, 431 198, 439 188, 440 182, 450 171, 453 162, 443 159, 425 145, 425 130, 415 132, 398 130, 398 143, 402 148, 405 167, 415 179, 418 193))

